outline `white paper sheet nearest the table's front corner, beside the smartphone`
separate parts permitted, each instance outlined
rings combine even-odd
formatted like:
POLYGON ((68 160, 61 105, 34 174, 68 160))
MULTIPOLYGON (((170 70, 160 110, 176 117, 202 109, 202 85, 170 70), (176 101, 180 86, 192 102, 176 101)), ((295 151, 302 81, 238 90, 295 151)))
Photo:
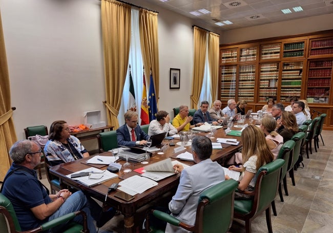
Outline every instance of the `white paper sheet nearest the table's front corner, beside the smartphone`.
POLYGON ((120 181, 119 185, 133 190, 136 193, 142 194, 145 190, 157 186, 158 183, 151 179, 135 175, 127 178, 126 180, 120 181))

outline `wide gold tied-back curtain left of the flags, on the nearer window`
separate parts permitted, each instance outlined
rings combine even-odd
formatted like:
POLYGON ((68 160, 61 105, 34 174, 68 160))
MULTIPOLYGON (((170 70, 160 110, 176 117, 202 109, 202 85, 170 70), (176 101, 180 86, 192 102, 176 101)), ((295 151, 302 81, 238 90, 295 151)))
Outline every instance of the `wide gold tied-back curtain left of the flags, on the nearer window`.
POLYGON ((117 116, 130 54, 131 6, 114 0, 102 0, 101 26, 108 124, 118 129, 117 116))

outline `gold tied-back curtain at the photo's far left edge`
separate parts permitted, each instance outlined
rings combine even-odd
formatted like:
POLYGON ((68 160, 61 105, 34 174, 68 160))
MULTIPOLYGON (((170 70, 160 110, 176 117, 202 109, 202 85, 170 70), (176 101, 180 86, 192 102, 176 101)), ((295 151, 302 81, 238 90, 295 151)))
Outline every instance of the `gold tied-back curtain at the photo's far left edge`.
POLYGON ((10 83, 0 13, 0 181, 4 181, 11 165, 8 151, 17 140, 10 104, 10 83))

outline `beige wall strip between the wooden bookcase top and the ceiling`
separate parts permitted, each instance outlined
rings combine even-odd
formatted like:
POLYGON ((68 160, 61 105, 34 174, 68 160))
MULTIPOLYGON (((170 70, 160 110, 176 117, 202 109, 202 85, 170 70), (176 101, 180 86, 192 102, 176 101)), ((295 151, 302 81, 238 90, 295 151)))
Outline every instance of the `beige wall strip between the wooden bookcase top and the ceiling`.
POLYGON ((224 31, 220 36, 220 44, 330 30, 333 29, 332 22, 333 14, 325 14, 280 23, 224 31))

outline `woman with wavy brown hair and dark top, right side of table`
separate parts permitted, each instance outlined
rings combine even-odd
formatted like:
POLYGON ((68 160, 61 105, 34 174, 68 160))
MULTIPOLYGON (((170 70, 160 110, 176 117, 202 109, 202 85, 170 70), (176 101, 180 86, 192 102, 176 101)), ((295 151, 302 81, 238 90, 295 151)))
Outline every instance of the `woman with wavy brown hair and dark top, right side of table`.
POLYGON ((286 142, 298 133, 298 124, 296 116, 292 112, 282 112, 281 118, 277 120, 278 133, 283 137, 283 142, 286 142))

